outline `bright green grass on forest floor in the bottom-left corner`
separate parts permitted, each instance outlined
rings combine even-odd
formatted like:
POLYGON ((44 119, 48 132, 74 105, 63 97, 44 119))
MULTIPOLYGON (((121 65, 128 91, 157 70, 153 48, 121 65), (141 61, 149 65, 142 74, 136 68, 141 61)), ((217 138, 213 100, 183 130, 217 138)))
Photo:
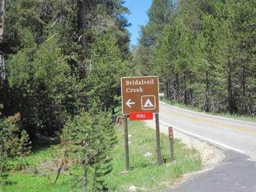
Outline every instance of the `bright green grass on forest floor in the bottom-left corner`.
MULTIPOLYGON (((72 176, 62 174, 57 184, 52 185, 56 171, 52 171, 50 166, 44 167, 44 171, 38 167, 43 162, 52 162, 55 165, 57 159, 63 156, 63 148, 59 144, 52 145, 32 152, 25 158, 25 162, 35 171, 26 173, 27 171, 12 172, 8 178, 8 184, 0 191, 13 192, 35 192, 35 191, 81 191, 81 187, 76 185, 76 180, 72 176)), ((8 165, 13 168, 18 164, 18 159, 9 159, 8 165)), ((54 167, 55 168, 55 167, 54 167)))

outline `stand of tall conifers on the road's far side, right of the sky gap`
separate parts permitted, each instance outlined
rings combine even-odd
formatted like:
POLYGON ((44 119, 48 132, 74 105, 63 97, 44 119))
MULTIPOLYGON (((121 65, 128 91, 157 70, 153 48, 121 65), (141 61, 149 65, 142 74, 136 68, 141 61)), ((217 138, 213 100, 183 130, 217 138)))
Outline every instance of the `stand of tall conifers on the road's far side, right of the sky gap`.
POLYGON ((134 73, 173 103, 256 118, 255 0, 154 0, 148 16, 134 73))

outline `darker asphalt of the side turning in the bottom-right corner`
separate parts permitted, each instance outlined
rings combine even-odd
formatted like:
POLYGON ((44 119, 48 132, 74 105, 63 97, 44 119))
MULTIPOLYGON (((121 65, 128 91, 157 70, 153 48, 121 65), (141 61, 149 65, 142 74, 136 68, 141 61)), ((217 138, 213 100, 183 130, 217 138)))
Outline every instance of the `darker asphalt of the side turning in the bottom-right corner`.
MULTIPOLYGON (((256 163, 233 151, 219 167, 165 192, 255 192, 256 163)), ((163 191, 164 192, 164 191, 163 191)))

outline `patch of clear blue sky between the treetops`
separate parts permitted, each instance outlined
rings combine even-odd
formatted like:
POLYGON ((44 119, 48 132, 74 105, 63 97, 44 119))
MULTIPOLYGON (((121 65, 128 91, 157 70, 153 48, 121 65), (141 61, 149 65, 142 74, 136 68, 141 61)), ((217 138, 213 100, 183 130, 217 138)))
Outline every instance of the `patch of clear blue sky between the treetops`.
POLYGON ((130 9, 131 14, 127 15, 128 21, 132 23, 128 30, 131 34, 131 46, 137 44, 139 38, 139 30, 141 25, 145 25, 148 21, 147 10, 149 10, 152 0, 126 0, 125 7, 130 9))

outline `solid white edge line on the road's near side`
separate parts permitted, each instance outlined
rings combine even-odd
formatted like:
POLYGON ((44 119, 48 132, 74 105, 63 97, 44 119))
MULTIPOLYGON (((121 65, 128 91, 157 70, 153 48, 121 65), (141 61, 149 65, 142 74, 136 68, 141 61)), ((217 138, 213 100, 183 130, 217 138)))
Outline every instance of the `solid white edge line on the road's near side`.
MULTIPOLYGON (((163 122, 162 120, 160 120, 159 122, 160 122, 160 124, 164 124, 165 126, 171 126, 171 125, 169 125, 169 124, 163 122)), ((216 144, 216 145, 218 145, 218 146, 222 146, 223 148, 227 148, 227 149, 229 149, 229 150, 233 150, 233 151, 238 152, 238 153, 240 153, 240 154, 246 154, 246 152, 244 152, 244 151, 242 151, 242 150, 239 150, 239 149, 237 149, 237 148, 233 148, 233 147, 228 146, 228 145, 226 145, 226 144, 219 143, 219 142, 217 142, 217 141, 213 141, 212 139, 208 139, 208 138, 206 138, 206 137, 202 137, 202 136, 200 136, 200 135, 196 135, 196 134, 191 133, 191 132, 189 132, 189 131, 181 130, 180 128, 175 128, 175 127, 173 127, 173 126, 171 126, 171 127, 172 127, 173 129, 177 130, 177 131, 180 131, 181 133, 184 133, 185 135, 191 135, 191 136, 193 136, 193 137, 195 137, 195 138, 197 138, 197 139, 206 141, 206 142, 208 142, 208 143, 212 143, 212 144, 216 144)))

